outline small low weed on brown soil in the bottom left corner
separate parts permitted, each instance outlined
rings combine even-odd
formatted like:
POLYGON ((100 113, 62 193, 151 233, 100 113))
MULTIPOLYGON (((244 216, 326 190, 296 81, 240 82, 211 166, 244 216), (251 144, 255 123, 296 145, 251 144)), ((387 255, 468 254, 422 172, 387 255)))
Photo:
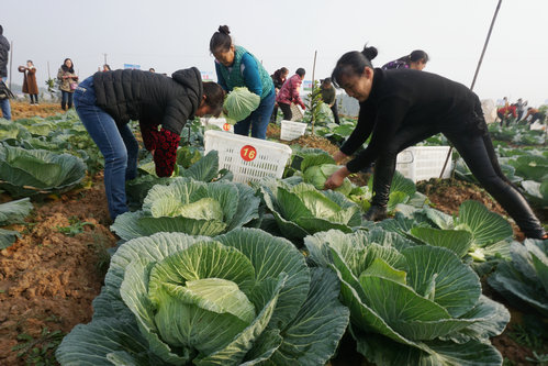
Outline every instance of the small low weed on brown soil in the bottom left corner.
POLYGON ((55 350, 57 350, 65 334, 61 331, 49 331, 47 326, 42 329, 38 337, 21 333, 18 340, 23 343, 18 344, 12 351, 19 351, 18 357, 24 359, 26 365, 57 365, 55 350))

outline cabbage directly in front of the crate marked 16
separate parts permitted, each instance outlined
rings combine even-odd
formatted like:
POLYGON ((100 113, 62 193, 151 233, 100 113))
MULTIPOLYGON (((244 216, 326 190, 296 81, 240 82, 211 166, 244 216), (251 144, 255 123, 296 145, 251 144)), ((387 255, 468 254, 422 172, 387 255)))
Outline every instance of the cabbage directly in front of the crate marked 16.
POLYGON ((124 240, 157 232, 214 236, 257 219, 259 202, 242 184, 177 177, 154 186, 142 210, 119 215, 111 228, 124 240))

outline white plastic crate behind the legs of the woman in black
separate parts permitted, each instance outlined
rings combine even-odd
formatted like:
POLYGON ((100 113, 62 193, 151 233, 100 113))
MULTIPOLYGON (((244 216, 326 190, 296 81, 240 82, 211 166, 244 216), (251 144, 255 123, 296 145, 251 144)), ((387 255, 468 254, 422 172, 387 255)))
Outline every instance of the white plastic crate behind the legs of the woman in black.
MULTIPOLYGON (((405 178, 410 178, 414 182, 430 178, 439 178, 448 152, 449 146, 407 147, 398 154, 395 169, 403 174, 405 178)), ((449 156, 449 162, 447 162, 443 178, 449 178, 451 169, 452 159, 451 156, 449 156)))

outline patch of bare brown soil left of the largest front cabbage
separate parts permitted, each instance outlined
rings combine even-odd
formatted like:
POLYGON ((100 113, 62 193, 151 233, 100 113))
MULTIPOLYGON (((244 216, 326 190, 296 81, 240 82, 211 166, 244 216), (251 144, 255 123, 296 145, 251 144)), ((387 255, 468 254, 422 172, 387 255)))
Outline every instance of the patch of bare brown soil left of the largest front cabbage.
POLYGON ((40 340, 44 328, 68 333, 91 320, 91 301, 108 268, 105 251, 116 242, 109 230, 102 176, 90 189, 33 204, 26 224, 12 226, 22 237, 0 252, 0 365, 25 364, 12 351, 24 343, 18 340, 21 334, 40 340), (69 226, 69 220, 91 225, 68 236, 59 228, 69 226))

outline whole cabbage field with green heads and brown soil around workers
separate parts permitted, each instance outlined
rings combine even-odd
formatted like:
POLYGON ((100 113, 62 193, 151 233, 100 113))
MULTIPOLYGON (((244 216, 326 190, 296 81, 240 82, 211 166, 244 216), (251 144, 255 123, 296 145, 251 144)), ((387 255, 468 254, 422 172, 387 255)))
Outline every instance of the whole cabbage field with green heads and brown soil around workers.
MULTIPOLYGON (((370 174, 322 190, 355 119, 320 109, 282 142, 283 177, 249 184, 204 152, 217 127, 189 121, 171 177, 142 146, 112 222, 78 115, 16 112, 0 119, 1 365, 548 362, 548 241, 524 240, 458 154, 451 179, 398 173, 389 218, 370 222, 370 174)), ((546 226, 545 132, 490 132, 546 226)))

